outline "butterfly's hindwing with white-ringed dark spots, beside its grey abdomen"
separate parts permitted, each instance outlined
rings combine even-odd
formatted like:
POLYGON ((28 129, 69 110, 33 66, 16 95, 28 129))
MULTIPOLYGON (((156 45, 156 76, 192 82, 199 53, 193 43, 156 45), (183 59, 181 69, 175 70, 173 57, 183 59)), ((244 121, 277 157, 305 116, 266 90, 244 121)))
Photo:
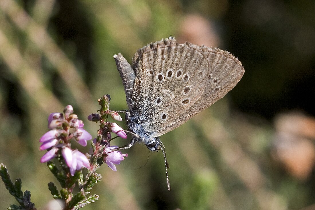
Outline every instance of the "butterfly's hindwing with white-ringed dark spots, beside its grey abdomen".
POLYGON ((203 95, 209 62, 200 50, 175 39, 162 40, 140 49, 133 64, 136 73, 132 98, 146 131, 173 124, 203 95))

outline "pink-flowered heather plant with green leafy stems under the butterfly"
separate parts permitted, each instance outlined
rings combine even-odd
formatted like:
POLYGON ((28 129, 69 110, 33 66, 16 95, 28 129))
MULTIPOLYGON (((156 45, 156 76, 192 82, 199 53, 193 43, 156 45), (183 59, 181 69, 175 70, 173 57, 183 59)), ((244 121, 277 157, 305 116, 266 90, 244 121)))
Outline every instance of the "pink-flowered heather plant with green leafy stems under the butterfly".
MULTIPOLYGON (((97 136, 92 140, 91 134, 83 129, 83 121, 73 114, 71 105, 66 106, 63 113, 51 113, 48 117, 48 128, 40 139, 40 150, 47 152, 40 159, 46 163, 49 170, 54 174, 61 189, 50 182, 48 189, 54 199, 60 203, 64 210, 75 210, 87 204, 94 203, 99 195, 90 195, 90 191, 96 183, 102 179, 97 173, 103 163, 106 163, 113 171, 117 171, 115 164, 120 164, 127 154, 116 151, 117 146, 111 146, 111 133, 117 137, 127 138, 125 131, 116 123, 108 122, 110 116, 113 120, 122 121, 120 115, 109 109, 110 96, 105 95, 98 100, 100 110, 98 113, 88 116, 90 121, 99 122, 100 128, 97 136), (72 142, 76 141, 82 146, 90 142, 89 153, 83 154, 78 149, 72 148, 72 142), (75 190, 76 187, 78 190, 75 190)), ((0 175, 9 193, 14 196, 19 205, 12 204, 9 210, 35 210, 35 204, 31 202, 31 192, 23 191, 21 179, 11 181, 7 167, 1 163, 0 175)), ((54 207, 48 208, 54 209, 54 207)))

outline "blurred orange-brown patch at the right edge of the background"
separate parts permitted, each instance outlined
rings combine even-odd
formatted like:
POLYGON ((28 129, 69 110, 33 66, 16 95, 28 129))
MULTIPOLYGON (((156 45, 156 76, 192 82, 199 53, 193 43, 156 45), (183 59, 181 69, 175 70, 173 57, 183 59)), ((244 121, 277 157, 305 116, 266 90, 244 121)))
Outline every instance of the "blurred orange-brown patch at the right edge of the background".
POLYGON ((286 170, 305 180, 315 161, 315 118, 301 113, 278 115, 275 119, 274 155, 286 170))

